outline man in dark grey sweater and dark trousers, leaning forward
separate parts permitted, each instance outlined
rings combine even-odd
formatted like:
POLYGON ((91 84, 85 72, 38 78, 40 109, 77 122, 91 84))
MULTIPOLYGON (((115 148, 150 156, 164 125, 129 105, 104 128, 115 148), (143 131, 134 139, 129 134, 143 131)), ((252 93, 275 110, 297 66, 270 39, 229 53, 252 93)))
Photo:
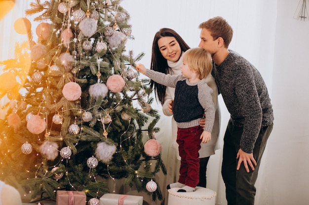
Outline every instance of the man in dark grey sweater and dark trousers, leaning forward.
POLYGON ((225 19, 214 17, 199 29, 199 47, 212 56, 212 74, 231 114, 221 171, 228 205, 254 205, 254 185, 273 125, 268 90, 259 71, 228 49, 233 30, 225 19))

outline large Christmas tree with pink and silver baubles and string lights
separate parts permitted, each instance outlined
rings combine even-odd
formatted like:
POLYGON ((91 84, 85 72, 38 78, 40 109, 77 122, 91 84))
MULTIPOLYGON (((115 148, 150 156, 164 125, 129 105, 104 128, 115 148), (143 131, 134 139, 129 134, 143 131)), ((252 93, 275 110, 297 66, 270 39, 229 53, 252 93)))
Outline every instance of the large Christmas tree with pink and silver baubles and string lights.
POLYGON ((0 179, 14 176, 33 198, 59 189, 99 198, 109 192, 104 179, 125 178, 161 200, 159 115, 149 79, 134 69, 144 53, 125 50, 134 38, 120 0, 36 0, 26 15, 37 15, 38 40, 18 19, 29 40, 0 62, 0 179))

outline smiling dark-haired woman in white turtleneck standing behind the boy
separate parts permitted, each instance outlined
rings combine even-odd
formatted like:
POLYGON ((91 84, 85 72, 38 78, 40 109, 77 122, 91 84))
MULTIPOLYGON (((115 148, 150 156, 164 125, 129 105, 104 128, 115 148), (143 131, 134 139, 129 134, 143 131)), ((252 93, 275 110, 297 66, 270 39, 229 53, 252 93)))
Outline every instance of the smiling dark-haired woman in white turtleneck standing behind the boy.
MULTIPOLYGON (((153 49, 152 49, 152 59, 150 69, 158 71, 165 74, 180 75, 182 65, 182 55, 185 51, 190 49, 188 44, 182 39, 182 37, 173 29, 163 28, 157 31, 154 35, 153 49)), ((211 141, 206 144, 201 144, 201 149, 199 150, 199 183, 197 186, 206 187, 206 169, 207 163, 210 155, 215 154, 215 149, 217 149, 217 139, 220 131, 220 110, 217 106, 218 100, 218 89, 214 78, 209 75, 206 78, 207 84, 213 89, 213 103, 216 108, 215 122, 213 130, 211 133, 211 141)), ((160 84, 151 81, 151 87, 154 87, 156 98, 162 105, 163 114, 166 116, 171 116, 171 107, 174 100, 175 88, 169 88, 162 86, 160 84)), ((203 126, 204 122, 201 122, 203 126)), ((177 125, 172 118, 172 147, 175 148, 176 153, 171 153, 169 151, 168 159, 171 160, 174 157, 171 155, 176 155, 178 160, 180 159, 178 145, 176 143, 177 138, 177 125)), ((168 163, 169 165, 170 163, 168 163)), ((179 164, 179 162, 178 162, 179 164)), ((174 169, 173 166, 171 169, 174 169)), ((177 169, 176 169, 177 170, 177 169)), ((169 167, 167 167, 169 171, 169 167)), ((170 178, 170 177, 169 177, 170 178)), ((174 176, 171 178, 174 179, 174 176)), ((167 182, 169 184, 169 182, 167 182)))

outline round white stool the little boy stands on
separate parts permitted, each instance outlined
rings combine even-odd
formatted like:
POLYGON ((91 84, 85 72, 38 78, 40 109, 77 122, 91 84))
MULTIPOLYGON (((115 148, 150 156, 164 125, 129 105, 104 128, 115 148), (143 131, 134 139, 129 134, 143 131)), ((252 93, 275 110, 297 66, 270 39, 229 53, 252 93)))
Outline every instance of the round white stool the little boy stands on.
POLYGON ((217 193, 211 189, 199 187, 193 192, 177 192, 179 188, 168 190, 168 205, 215 205, 217 193))

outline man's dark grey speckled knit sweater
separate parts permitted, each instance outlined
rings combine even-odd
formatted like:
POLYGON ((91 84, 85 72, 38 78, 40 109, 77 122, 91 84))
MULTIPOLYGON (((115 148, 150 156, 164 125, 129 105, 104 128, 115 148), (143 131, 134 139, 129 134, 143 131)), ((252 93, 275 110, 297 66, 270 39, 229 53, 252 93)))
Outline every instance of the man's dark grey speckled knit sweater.
POLYGON ((240 148, 252 153, 261 126, 273 123, 273 111, 266 84, 259 71, 236 52, 230 51, 213 75, 234 126, 242 127, 240 148))

